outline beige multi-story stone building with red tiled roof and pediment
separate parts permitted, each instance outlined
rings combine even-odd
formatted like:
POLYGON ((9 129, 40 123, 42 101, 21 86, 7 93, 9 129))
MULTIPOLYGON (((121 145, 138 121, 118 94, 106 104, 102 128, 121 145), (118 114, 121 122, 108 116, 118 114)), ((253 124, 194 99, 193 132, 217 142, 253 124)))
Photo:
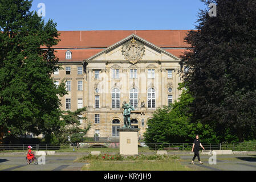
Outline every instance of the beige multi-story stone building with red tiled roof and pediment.
POLYGON ((60 31, 55 46, 63 69, 52 76, 66 80, 63 110, 87 106, 92 123, 87 137, 118 137, 123 126, 124 101, 135 107, 132 127, 141 137, 152 113, 177 100, 180 55, 188 47, 186 30, 60 31))

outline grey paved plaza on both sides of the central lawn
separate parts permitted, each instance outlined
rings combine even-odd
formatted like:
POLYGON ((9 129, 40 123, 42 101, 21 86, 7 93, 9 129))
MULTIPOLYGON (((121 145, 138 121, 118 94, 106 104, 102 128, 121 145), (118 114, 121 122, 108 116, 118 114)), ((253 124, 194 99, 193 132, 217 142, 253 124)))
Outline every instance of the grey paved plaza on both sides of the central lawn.
MULTIPOLYGON (((87 163, 74 162, 81 155, 46 155, 46 164, 27 165, 25 156, 0 155, 0 171, 80 171, 87 163)), ((193 155, 178 155, 180 163, 192 170, 200 171, 256 171, 256 155, 217 155, 217 164, 210 165, 209 155, 200 155, 204 164, 197 159, 190 164, 193 155)))

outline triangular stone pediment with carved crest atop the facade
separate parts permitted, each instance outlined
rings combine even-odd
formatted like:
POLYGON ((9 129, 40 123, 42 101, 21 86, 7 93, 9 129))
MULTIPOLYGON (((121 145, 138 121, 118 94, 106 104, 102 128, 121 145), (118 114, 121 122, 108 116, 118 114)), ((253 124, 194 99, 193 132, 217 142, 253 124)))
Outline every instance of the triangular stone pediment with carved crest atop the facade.
POLYGON ((147 40, 132 34, 112 46, 109 46, 104 51, 88 58, 86 61, 128 61, 135 65, 140 61, 159 60, 179 61, 180 59, 147 40))

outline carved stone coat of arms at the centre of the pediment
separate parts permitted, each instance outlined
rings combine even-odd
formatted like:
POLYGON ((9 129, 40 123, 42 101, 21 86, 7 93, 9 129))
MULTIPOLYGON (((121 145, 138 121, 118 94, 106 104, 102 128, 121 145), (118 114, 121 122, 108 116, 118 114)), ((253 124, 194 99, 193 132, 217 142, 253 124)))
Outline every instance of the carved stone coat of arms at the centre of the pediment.
POLYGON ((124 55, 124 59, 128 60, 132 64, 135 64, 144 56, 145 47, 143 43, 132 38, 132 40, 124 43, 122 53, 124 55))

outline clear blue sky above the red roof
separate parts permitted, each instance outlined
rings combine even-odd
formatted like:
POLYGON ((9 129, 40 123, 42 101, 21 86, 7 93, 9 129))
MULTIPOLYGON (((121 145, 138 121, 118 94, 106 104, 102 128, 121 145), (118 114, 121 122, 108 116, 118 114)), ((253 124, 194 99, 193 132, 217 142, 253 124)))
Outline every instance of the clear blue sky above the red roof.
POLYGON ((189 30, 194 29, 200 0, 34 0, 46 6, 46 20, 58 30, 189 30))

